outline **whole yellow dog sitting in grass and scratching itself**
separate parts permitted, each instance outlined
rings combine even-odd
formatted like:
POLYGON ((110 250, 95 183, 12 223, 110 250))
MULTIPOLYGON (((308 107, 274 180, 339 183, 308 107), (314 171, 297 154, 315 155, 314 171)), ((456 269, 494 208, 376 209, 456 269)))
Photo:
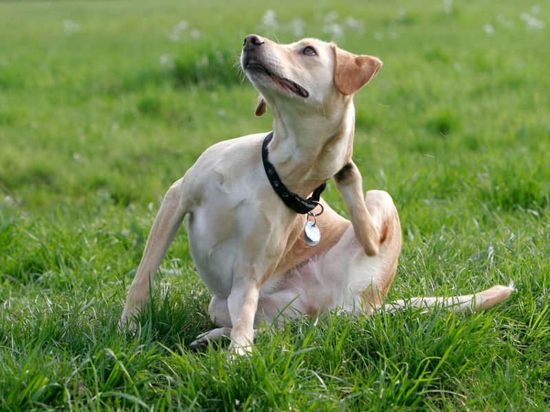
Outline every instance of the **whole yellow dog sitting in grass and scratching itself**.
MULTIPOLYGON (((250 351, 254 328, 277 322, 281 312, 296 317, 380 306, 401 249, 392 198, 379 190, 363 197, 351 159, 353 94, 382 62, 314 38, 280 45, 250 35, 241 65, 261 93, 256 115, 266 104, 273 112, 273 132, 215 144, 170 187, 120 322, 133 326, 188 216, 190 253, 213 294, 209 312, 218 327, 195 344, 230 336, 232 353, 250 351), (331 178, 350 220, 319 198, 331 178)), ((494 286, 476 295, 415 298, 410 304, 477 310, 510 293, 511 288, 494 286)))

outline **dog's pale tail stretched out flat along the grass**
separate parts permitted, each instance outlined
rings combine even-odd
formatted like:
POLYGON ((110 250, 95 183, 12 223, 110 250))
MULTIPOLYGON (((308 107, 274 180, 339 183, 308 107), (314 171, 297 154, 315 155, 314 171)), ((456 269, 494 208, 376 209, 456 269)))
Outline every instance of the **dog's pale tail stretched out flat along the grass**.
POLYGON ((412 297, 409 300, 398 300, 388 304, 382 304, 384 310, 395 312, 403 308, 448 308, 454 312, 467 312, 472 310, 488 309, 507 297, 514 291, 514 284, 509 286, 493 286, 482 292, 473 295, 462 295, 452 297, 412 297))

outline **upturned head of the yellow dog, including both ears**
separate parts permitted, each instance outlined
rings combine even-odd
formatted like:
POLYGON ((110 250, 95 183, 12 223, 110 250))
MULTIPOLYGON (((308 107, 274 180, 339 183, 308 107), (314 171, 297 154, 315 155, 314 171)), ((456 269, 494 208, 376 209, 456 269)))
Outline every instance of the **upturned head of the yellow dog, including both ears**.
POLYGON ((375 76, 382 61, 316 38, 279 45, 251 34, 245 37, 241 65, 264 97, 256 108, 256 115, 261 115, 265 100, 318 106, 338 96, 351 96, 375 76))

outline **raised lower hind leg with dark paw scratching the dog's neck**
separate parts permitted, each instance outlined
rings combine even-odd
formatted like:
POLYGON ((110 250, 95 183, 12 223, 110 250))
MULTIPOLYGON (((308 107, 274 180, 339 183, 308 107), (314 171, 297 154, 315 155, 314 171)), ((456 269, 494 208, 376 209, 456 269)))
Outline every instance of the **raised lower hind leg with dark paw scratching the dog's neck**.
POLYGON ((348 208, 355 237, 366 255, 376 255, 380 247, 380 228, 376 227, 369 210, 366 209, 363 200, 363 179, 359 169, 353 161, 349 161, 334 175, 334 180, 348 208))

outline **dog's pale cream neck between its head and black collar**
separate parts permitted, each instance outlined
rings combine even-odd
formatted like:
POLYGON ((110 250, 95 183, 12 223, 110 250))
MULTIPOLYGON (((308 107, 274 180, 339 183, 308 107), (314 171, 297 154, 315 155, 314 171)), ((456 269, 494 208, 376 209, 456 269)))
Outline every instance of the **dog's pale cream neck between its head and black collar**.
MULTIPOLYGON (((338 106, 338 105, 335 105, 338 106)), ((351 159, 355 108, 349 98, 340 113, 317 116, 274 114, 270 162, 285 185, 307 197, 351 159)), ((282 113, 283 112, 283 113, 282 113)))

